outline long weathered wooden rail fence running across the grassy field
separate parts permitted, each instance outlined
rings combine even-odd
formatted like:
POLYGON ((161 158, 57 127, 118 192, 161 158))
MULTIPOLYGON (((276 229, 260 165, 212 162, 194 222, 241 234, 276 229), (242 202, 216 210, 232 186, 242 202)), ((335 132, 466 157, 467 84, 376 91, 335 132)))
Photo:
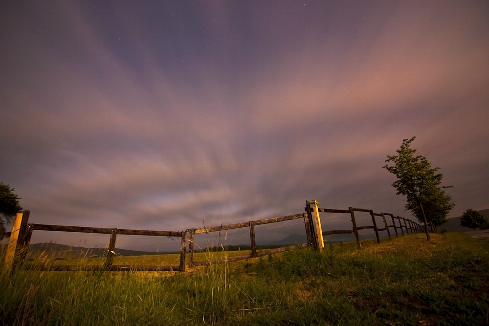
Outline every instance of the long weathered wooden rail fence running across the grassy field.
POLYGON ((425 227, 404 217, 394 216, 390 213, 374 213, 373 210, 349 207, 348 210, 331 209, 331 208, 319 208, 318 202, 313 200, 309 202, 306 200, 305 213, 288 215, 283 217, 273 217, 267 219, 260 219, 242 223, 227 224, 214 227, 203 227, 196 229, 187 229, 186 231, 151 231, 151 230, 128 230, 128 229, 110 229, 110 228, 96 228, 96 227, 83 227, 83 226, 65 226, 65 225, 49 225, 49 224, 28 224, 29 211, 23 211, 17 213, 12 226, 12 232, 6 236, 10 236, 7 253, 5 255, 5 270, 12 272, 17 267, 22 266, 25 259, 29 242, 32 236, 32 231, 59 231, 59 232, 83 232, 83 233, 98 233, 109 234, 109 246, 106 251, 106 259, 102 265, 30 265, 24 266, 24 269, 36 269, 36 270, 56 270, 56 271, 95 271, 95 270, 109 270, 109 271, 124 271, 124 270, 145 270, 145 271, 185 271, 185 254, 187 250, 187 232, 189 234, 188 252, 189 252, 189 267, 207 265, 211 263, 221 263, 226 261, 238 261, 249 258, 255 258, 260 256, 266 256, 275 254, 287 250, 288 247, 280 247, 274 249, 267 249, 257 251, 256 239, 255 239, 255 226, 278 223, 294 219, 302 218, 304 220, 304 227, 307 236, 307 243, 297 244, 298 247, 311 246, 314 249, 322 250, 324 247, 323 236, 333 234, 355 234, 356 243, 358 248, 361 248, 359 230, 373 229, 377 238, 377 242, 380 243, 379 231, 387 231, 389 239, 391 239, 391 232, 389 228, 392 228, 396 234, 396 237, 401 233, 413 234, 425 232, 425 227), (312 207, 311 207, 312 206, 312 207), (372 225, 357 226, 355 212, 369 213, 372 219, 372 225), (349 214, 353 228, 351 230, 326 230, 323 231, 321 227, 320 213, 339 213, 349 214), (314 218, 312 218, 314 216, 314 218), (387 222, 387 216, 392 220, 392 224, 387 222), (379 221, 382 227, 378 226, 376 217, 381 217, 379 221), (397 223, 396 223, 397 221, 397 223), (225 230, 234 230, 239 228, 249 228, 251 253, 227 257, 221 260, 207 259, 204 261, 194 261, 194 237, 197 234, 219 232, 225 230), (398 232, 398 230, 400 232, 398 232), (405 232, 404 232, 405 231, 405 232), (159 237, 177 237, 181 238, 180 245, 180 263, 178 266, 138 266, 138 265, 114 265, 112 264, 112 256, 115 249, 115 239, 117 235, 135 235, 135 236, 159 236, 159 237))

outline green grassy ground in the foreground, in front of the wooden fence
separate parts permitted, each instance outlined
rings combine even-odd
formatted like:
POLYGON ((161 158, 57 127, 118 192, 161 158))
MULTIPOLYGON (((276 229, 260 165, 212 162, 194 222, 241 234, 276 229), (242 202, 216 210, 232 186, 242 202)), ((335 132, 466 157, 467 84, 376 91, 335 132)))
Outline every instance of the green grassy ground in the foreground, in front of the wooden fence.
POLYGON ((0 324, 487 325, 489 242, 423 237, 365 240, 361 250, 336 244, 322 254, 304 248, 181 274, 19 270, 1 276, 0 324))

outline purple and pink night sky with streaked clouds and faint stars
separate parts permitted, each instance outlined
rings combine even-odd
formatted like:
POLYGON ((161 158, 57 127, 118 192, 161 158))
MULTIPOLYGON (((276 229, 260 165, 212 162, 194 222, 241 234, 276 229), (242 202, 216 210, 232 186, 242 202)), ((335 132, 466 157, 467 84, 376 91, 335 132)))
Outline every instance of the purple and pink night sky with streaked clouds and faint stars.
POLYGON ((488 122, 486 0, 0 3, 0 180, 32 223, 411 217, 382 166, 412 136, 460 216, 489 208, 488 122))

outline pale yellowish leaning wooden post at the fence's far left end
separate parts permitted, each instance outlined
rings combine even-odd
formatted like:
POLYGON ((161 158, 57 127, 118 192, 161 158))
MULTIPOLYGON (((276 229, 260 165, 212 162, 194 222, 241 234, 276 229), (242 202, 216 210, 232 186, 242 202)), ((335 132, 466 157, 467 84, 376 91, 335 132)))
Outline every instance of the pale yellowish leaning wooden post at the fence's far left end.
POLYGON ((24 245, 24 235, 27 227, 27 220, 29 219, 30 211, 23 211, 15 215, 14 223, 12 224, 12 232, 10 233, 10 239, 8 241, 7 252, 5 254, 5 273, 11 275, 15 270, 19 259, 22 255, 24 245))

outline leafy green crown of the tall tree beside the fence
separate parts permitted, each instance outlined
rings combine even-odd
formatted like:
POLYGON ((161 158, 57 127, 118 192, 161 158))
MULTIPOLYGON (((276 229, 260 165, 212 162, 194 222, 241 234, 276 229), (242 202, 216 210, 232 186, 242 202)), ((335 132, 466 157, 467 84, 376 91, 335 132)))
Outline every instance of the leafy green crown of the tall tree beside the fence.
POLYGON ((410 147, 415 139, 403 139, 400 149, 396 151, 398 155, 387 155, 385 160, 395 165, 386 164, 383 168, 397 176, 392 186, 397 189, 397 195, 407 197, 406 210, 410 210, 421 222, 424 211, 428 223, 441 225, 455 206, 452 197, 444 190, 451 186, 441 186, 443 174, 437 173, 440 168, 432 168, 426 156, 416 155, 416 150, 410 147))

